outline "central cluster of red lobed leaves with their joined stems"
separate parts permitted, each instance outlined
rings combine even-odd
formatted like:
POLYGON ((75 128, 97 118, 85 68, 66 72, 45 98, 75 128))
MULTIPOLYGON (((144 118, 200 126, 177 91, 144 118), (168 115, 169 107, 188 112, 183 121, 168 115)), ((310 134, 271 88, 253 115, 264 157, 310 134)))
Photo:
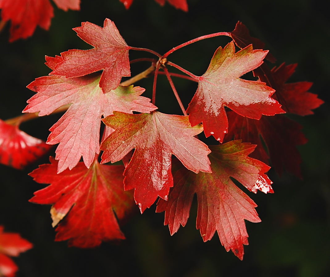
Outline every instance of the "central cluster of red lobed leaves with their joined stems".
POLYGON ((245 220, 260 221, 243 187, 273 193, 266 175, 269 165, 279 173, 285 168, 300 176, 295 146, 306 139, 300 126, 282 113, 306 115, 322 103, 307 91, 311 83, 286 83, 296 65, 271 70, 264 60, 275 58, 240 22, 232 32, 195 38, 163 55, 129 46, 110 19, 103 27, 83 22, 74 30, 93 48, 46 57, 52 71, 28 85, 36 94, 23 112, 31 116, 19 121, 66 111, 50 128, 46 142, 58 144, 55 158, 30 173, 36 182, 50 184, 30 201, 52 205, 56 240, 93 247, 124 239, 117 220, 137 208, 143 213, 157 199, 156 212, 165 212, 164 223, 174 234, 186 224, 196 193, 196 227, 203 240, 217 231, 225 249, 243 259, 243 245, 248 244, 245 220), (232 41, 215 50, 203 75, 170 61, 170 55, 186 45, 218 36, 232 41), (131 51, 155 58, 130 60, 131 51), (122 81, 131 76, 130 64, 141 61, 150 62, 149 68, 122 81), (182 74, 172 73, 173 67, 182 74), (242 77, 250 71, 254 80, 242 77), (159 74, 166 75, 182 114, 157 111, 159 74), (187 107, 173 76, 197 83, 187 107), (153 79, 152 99, 141 96, 145 89, 138 86, 147 77, 153 79), (199 139, 202 132, 215 138, 214 145, 199 139), (108 164, 118 161, 123 165, 108 164))

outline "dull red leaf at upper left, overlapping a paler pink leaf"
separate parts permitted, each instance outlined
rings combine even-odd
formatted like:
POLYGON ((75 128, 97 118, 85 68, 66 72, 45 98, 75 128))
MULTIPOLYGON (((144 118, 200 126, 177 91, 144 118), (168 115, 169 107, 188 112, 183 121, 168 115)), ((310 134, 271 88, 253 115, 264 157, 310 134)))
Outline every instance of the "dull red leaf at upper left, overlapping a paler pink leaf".
POLYGON ((103 70, 100 87, 104 93, 116 89, 121 77, 131 76, 128 58, 130 46, 121 37, 114 22, 106 18, 103 28, 82 22, 81 27, 73 30, 94 49, 74 49, 61 53, 63 61, 50 74, 72 78, 103 70))

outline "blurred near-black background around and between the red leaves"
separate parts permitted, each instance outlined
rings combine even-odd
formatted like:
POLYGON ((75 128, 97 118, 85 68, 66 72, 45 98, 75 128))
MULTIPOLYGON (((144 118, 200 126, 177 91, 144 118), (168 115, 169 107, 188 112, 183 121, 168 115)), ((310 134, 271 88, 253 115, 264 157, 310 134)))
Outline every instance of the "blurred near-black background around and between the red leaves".
MULTIPOLYGON (((165 53, 174 46, 198 36, 232 31, 238 20, 260 38, 282 62, 299 63, 289 80, 314 82, 311 92, 327 103, 306 117, 294 116, 309 139, 299 146, 303 158, 303 180, 272 170, 274 194, 248 195, 258 204, 261 223, 246 222, 250 245, 244 260, 227 253, 217 237, 204 243, 195 228, 196 201, 187 226, 173 237, 163 226, 164 214, 152 206, 122 227, 126 240, 103 243, 95 249, 68 248, 67 242, 54 242, 50 206, 28 202, 41 189, 27 173, 45 157, 23 171, 0 165, 0 224, 8 232, 19 232, 34 248, 14 258, 17 276, 329 276, 330 275, 330 186, 329 186, 329 4, 312 0, 218 1, 188 0, 184 13, 153 0, 134 0, 127 11, 118 0, 82 0, 81 11, 64 12, 55 8, 50 30, 37 28, 33 37, 8 42, 9 25, 0 34, 1 100, 0 118, 20 114, 33 92, 25 88, 35 78, 47 75, 45 55, 54 56, 68 49, 89 49, 71 29, 89 21, 103 26, 113 20, 126 40, 135 47, 165 53), (272 2, 272 3, 271 3, 272 2)), ((196 75, 207 69, 215 49, 230 41, 212 38, 187 46, 170 56, 196 75)), ((152 57, 130 51, 130 57, 152 57)), ((149 67, 132 65, 132 75, 149 67)), ((187 106, 196 84, 174 79, 187 106)), ((139 84, 151 96, 152 80, 139 84)), ((161 112, 180 113, 165 77, 159 77, 157 100, 161 112)), ((21 129, 47 139, 48 129, 59 118, 51 115, 21 125, 21 129)), ((53 149, 54 151, 54 149, 53 149)), ((288 154, 289 155, 289 154, 288 154)), ((195 199, 196 200, 196 199, 195 199)))

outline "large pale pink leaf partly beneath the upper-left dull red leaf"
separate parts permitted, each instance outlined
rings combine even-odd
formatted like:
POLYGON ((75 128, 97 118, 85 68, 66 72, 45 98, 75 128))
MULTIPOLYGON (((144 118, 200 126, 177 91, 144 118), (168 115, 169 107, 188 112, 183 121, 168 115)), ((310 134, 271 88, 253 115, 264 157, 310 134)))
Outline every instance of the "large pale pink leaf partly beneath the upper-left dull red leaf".
MULTIPOLYGON (((53 67, 60 57, 47 57, 47 65, 53 67)), ((99 87, 100 77, 65 78, 45 76, 37 78, 28 88, 37 92, 27 103, 23 113, 50 114, 57 108, 73 103, 68 111, 49 130, 48 144, 59 143, 56 149, 58 173, 72 169, 81 157, 89 167, 95 153, 99 153, 101 117, 113 111, 149 113, 156 109, 149 98, 140 96, 145 89, 122 87, 104 94, 99 87), (88 147, 86 147, 88 145, 88 147)), ((109 133, 109 132, 108 132, 109 133)))

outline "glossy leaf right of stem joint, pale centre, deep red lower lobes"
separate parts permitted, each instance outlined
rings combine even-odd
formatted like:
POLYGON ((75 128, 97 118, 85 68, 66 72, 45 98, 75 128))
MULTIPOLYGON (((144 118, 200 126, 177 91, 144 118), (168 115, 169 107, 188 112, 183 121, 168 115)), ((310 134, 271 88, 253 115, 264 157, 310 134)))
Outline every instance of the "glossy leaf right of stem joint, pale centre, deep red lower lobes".
POLYGON ((224 106, 236 113, 259 119, 261 115, 283 113, 281 105, 270 96, 274 89, 259 81, 240 77, 260 66, 268 51, 248 46, 235 53, 233 42, 219 47, 207 71, 199 77, 197 91, 187 113, 192 126, 203 122, 206 137, 222 142, 228 130, 224 106))

